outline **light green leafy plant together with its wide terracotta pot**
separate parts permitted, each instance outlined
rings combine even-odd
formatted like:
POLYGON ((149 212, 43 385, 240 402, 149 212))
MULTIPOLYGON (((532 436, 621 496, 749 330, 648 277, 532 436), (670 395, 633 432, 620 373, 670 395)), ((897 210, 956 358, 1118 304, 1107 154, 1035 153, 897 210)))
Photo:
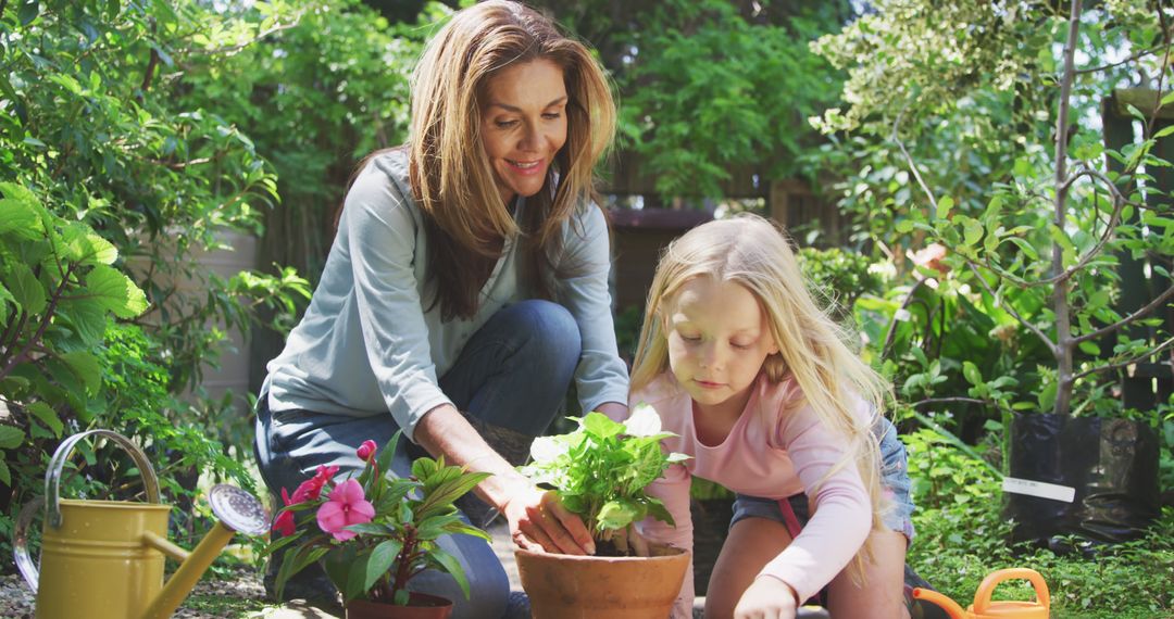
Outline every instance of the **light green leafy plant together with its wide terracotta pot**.
POLYGON ((534 617, 639 619, 668 617, 689 565, 679 549, 652 545, 636 556, 635 523, 648 516, 672 523, 660 499, 645 488, 673 463, 661 440, 660 416, 652 407, 634 408, 626 423, 588 413, 579 429, 540 437, 522 474, 554 489, 562 504, 582 517, 595 539, 593 557, 517 550, 518 572, 534 617))

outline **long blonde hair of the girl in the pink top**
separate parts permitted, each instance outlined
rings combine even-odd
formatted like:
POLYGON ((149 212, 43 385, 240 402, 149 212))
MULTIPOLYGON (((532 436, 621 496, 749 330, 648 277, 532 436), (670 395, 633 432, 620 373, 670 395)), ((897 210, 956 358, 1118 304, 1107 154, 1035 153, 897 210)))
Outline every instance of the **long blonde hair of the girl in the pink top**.
MULTIPOLYGON (((669 370, 664 311, 681 286, 699 277, 740 284, 758 300, 778 346, 762 372, 771 382, 792 376, 819 422, 843 436, 849 450, 837 469, 855 458, 871 497, 872 529, 882 529, 880 515, 888 505, 880 491, 879 437, 872 427, 891 389, 848 346, 848 333, 815 302, 785 233, 774 222, 753 215, 709 222, 668 246, 648 292, 632 390, 669 370), (869 419, 853 411, 855 397, 870 404, 869 419)), ((865 557, 869 553, 865 547, 865 557)), ((859 560, 853 572, 863 577, 859 560)))

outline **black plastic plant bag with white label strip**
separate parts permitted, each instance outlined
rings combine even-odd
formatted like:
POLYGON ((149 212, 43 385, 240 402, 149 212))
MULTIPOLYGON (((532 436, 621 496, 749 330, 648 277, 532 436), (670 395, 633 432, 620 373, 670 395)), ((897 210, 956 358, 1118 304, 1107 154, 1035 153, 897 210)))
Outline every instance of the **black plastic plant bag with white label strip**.
POLYGON ((1136 539, 1160 515, 1158 434, 1119 419, 1016 414, 1011 477, 1075 488, 1072 503, 1006 492, 1014 542, 1055 550, 1077 535, 1101 543, 1136 539))

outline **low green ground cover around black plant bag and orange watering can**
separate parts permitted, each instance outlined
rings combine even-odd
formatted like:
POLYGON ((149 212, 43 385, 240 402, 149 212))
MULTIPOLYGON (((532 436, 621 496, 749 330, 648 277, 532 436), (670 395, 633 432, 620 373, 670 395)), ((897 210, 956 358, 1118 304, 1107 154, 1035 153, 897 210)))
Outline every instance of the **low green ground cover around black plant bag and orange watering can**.
MULTIPOLYGON (((1095 560, 1008 545, 1005 539, 1013 523, 1000 513, 999 475, 936 430, 903 438, 918 506, 909 562, 935 589, 969 603, 987 573, 1026 565, 1047 581, 1053 617, 1149 619, 1174 612, 1174 591, 1168 586, 1174 578, 1174 509, 1167 508, 1141 539, 1098 549, 1095 560)), ((1086 547, 1082 540, 1068 542, 1086 547)), ((999 594, 1034 599, 1031 587, 1019 581, 1000 585, 999 594)))

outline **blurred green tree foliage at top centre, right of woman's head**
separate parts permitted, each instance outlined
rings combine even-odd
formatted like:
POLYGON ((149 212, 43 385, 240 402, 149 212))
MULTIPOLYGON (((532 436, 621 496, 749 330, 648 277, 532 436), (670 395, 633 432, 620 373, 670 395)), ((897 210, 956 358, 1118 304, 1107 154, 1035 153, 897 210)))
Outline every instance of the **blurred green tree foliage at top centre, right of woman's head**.
POLYGON ((807 118, 839 76, 808 49, 846 2, 670 0, 542 2, 600 49, 620 93, 620 145, 664 197, 722 197, 731 171, 763 183, 805 174, 821 142, 807 118))

